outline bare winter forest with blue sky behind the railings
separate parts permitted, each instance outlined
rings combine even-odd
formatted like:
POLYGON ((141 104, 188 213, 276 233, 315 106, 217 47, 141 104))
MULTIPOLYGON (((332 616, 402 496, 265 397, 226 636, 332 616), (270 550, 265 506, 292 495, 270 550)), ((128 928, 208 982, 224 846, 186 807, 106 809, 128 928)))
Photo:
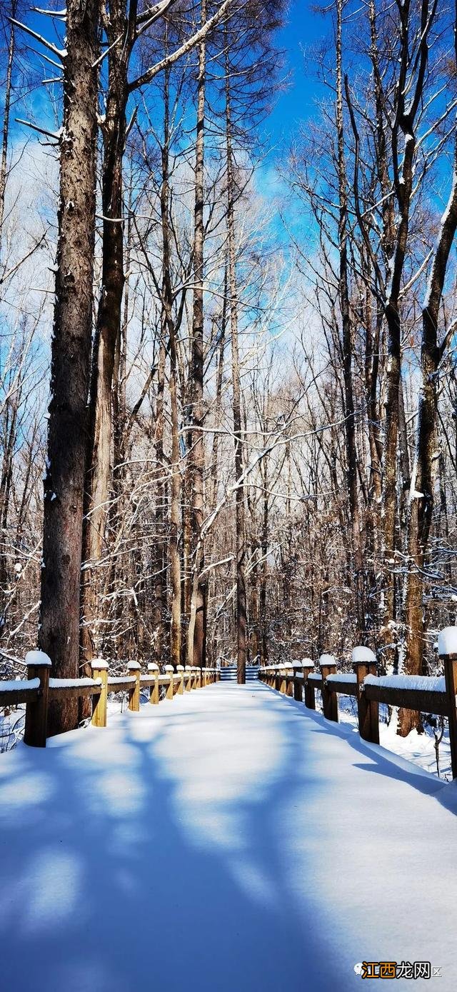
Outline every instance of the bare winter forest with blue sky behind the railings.
MULTIPOLYGON (((440 674, 457 2, 4 0, 0 23, 2 677, 37 645, 60 679, 244 682, 354 645, 440 674)), ((87 715, 56 701, 50 734, 87 715)))

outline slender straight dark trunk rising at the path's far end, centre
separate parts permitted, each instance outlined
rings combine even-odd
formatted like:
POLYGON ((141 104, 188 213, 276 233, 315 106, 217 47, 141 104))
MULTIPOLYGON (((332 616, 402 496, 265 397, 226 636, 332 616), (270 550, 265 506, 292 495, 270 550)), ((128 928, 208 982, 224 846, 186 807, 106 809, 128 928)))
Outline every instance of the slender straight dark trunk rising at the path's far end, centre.
POLYGON ((232 148, 232 111, 230 75, 226 57, 226 152, 227 152, 227 234, 228 281, 230 294, 230 331, 232 337, 232 389, 233 437, 235 444, 235 519, 236 519, 236 624, 237 624, 237 681, 246 682, 246 580, 245 580, 245 499, 243 482, 243 437, 241 422, 240 355, 238 346, 238 288, 236 276, 235 243, 235 177, 232 148))

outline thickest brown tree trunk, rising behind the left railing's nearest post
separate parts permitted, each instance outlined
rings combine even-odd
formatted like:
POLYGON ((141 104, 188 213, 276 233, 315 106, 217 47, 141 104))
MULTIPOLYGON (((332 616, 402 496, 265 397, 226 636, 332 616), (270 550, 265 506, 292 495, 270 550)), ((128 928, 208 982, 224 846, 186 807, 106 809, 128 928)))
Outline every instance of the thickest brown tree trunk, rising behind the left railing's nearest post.
MULTIPOLYGON (((59 678, 75 678, 92 336, 98 2, 68 0, 63 62, 57 275, 45 480, 39 642, 59 678)), ((51 734, 74 727, 77 700, 52 702, 51 734)))

